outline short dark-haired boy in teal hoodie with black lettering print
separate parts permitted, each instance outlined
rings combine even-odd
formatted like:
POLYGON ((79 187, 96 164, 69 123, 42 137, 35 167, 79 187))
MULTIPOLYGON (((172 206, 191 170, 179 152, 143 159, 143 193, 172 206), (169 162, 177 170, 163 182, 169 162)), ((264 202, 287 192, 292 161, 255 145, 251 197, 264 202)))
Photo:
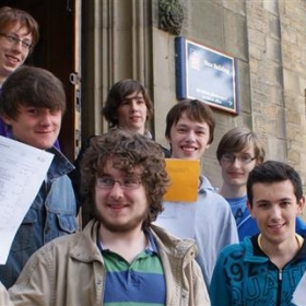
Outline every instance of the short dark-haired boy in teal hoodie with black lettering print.
POLYGON ((301 177, 287 164, 268 161, 250 172, 247 197, 260 233, 221 251, 210 286, 212 306, 293 305, 306 271, 305 237, 295 231, 305 205, 301 177))

